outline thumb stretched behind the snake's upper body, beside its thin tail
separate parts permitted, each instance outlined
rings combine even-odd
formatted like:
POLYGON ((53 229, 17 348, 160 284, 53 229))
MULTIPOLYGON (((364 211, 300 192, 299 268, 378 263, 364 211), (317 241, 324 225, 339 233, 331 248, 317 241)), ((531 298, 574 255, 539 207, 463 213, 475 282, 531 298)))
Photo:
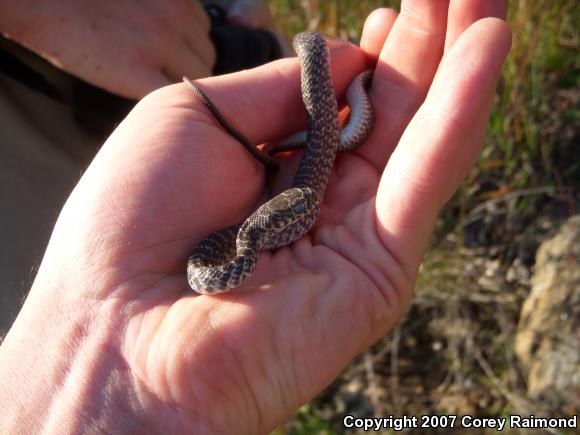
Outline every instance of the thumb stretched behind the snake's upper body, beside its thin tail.
MULTIPOLYGON (((358 47, 340 44, 331 49, 331 64, 334 88, 341 95, 354 76, 367 67, 367 58, 358 47)), ((306 124, 296 58, 197 83, 234 128, 254 143, 287 137, 306 124)), ((185 86, 180 92, 191 94, 185 86)), ((190 99, 200 107, 193 94, 190 99)))

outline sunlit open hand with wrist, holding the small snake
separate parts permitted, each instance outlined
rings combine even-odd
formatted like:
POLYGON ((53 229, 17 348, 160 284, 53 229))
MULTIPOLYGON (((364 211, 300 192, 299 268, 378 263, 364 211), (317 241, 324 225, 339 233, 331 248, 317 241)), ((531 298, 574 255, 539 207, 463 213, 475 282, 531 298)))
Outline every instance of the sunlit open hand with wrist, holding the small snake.
MULTIPOLYGON (((185 85, 143 99, 70 196, 0 347, 4 428, 267 433, 320 392, 412 296, 437 212, 485 136, 505 9, 407 0, 367 18, 362 50, 332 49, 338 95, 376 61, 375 130, 337 159, 309 235, 220 296, 188 291, 188 254, 287 185, 297 159, 264 188, 185 85)), ((263 143, 304 126, 298 77, 284 59, 199 83, 263 143)))

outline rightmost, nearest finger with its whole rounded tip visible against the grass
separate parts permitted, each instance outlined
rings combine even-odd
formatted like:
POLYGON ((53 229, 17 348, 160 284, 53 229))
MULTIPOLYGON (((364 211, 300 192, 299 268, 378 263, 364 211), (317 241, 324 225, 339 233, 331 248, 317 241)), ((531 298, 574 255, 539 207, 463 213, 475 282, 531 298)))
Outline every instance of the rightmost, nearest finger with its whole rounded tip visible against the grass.
POLYGON ((483 143, 490 101, 510 47, 505 22, 484 19, 456 41, 383 173, 379 234, 414 274, 435 218, 483 143))

